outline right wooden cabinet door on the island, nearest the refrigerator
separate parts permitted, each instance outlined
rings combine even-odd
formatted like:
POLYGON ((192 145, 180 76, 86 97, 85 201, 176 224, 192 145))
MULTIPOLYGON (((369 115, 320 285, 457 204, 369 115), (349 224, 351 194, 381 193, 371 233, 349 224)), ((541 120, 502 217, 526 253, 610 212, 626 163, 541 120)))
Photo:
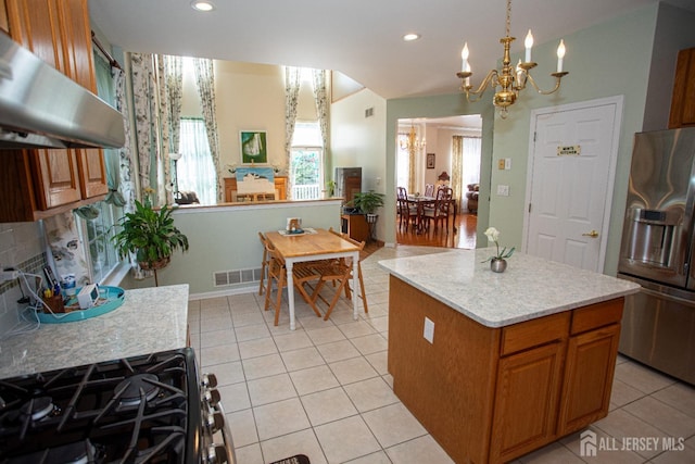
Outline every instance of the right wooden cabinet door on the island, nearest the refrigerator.
POLYGON ((558 436, 608 414, 619 338, 619 324, 570 337, 558 436))

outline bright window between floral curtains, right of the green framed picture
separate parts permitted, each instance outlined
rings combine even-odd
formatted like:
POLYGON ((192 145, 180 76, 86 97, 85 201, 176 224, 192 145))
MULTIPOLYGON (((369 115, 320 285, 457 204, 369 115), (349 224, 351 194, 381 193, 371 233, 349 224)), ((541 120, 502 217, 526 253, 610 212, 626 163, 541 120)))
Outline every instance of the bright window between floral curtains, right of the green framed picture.
POLYGON ((296 122, 290 150, 292 200, 316 200, 324 185, 324 149, 317 121, 296 122))

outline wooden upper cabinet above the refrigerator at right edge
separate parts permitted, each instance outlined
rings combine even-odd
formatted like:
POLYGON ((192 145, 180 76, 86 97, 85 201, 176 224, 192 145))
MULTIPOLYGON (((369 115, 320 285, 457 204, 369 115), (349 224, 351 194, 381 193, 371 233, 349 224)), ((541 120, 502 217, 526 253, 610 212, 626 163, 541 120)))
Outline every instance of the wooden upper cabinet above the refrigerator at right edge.
POLYGON ((695 48, 678 52, 669 128, 695 126, 695 48))

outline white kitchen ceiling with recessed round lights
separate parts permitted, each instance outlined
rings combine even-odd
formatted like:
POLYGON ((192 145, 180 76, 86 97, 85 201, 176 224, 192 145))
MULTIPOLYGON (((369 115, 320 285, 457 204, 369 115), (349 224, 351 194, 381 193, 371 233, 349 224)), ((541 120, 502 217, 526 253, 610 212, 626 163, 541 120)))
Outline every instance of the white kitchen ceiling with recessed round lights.
MULTIPOLYGON (((89 8, 92 24, 125 51, 334 70, 386 99, 456 92, 464 41, 473 84, 502 55, 504 0, 212 1, 210 13, 190 0, 89 0, 89 8), (403 41, 410 32, 421 38, 403 41)), ((513 52, 523 49, 528 28, 535 43, 555 41, 657 1, 517 0, 513 52)), ((693 0, 667 2, 695 11, 693 0)), ((553 71, 554 62, 541 62, 536 73, 553 71)))

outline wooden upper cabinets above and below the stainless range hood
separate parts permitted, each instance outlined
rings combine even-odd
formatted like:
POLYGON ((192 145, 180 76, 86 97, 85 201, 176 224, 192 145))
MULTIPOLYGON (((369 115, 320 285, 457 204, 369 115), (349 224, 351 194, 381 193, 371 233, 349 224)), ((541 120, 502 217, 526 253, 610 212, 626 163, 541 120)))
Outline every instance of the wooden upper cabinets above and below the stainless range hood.
MULTIPOLYGON (((3 7, 16 42, 96 93, 87 0, 4 0, 3 7)), ((35 221, 109 191, 101 149, 12 151, 5 158, 22 177, 9 176, 0 186, 16 201, 0 209, 2 222, 35 221)))

